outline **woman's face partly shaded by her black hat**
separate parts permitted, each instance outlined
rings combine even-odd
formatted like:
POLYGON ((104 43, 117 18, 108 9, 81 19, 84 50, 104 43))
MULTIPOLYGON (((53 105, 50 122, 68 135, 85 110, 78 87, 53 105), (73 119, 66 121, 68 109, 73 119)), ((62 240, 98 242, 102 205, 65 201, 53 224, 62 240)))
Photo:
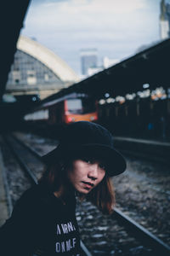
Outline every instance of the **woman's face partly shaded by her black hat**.
POLYGON ((73 160, 68 178, 73 187, 82 194, 88 194, 105 177, 105 166, 99 160, 73 160))

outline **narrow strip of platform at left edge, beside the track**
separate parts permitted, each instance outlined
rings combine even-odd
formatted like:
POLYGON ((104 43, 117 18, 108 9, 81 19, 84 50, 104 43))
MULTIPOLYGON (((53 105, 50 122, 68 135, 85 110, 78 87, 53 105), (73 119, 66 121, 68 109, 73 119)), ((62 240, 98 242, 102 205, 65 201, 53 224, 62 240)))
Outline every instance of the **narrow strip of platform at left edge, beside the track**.
POLYGON ((0 146, 0 226, 2 226, 8 218, 7 196, 4 188, 4 168, 3 155, 0 146))

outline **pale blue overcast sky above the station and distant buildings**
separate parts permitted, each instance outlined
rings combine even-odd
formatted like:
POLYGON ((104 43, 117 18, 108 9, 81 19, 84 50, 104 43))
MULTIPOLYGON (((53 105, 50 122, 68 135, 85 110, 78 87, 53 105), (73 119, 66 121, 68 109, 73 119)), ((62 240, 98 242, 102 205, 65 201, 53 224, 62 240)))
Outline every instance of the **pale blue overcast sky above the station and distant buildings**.
MULTIPOLYGON (((52 49, 76 73, 80 49, 122 60, 160 40, 161 0, 32 0, 21 33, 52 49)), ((166 2, 170 3, 170 0, 166 2)))

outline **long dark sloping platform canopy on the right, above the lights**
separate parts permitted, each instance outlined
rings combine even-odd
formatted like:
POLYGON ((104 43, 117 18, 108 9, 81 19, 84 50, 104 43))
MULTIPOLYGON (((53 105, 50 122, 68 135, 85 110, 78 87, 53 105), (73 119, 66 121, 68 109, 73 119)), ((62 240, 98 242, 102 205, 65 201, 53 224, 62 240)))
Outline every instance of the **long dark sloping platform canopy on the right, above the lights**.
POLYGON ((160 86, 167 89, 170 88, 169 61, 170 39, 167 39, 65 90, 60 90, 44 101, 72 92, 88 93, 96 98, 101 98, 106 92, 111 96, 125 96, 127 93, 144 90, 143 84, 150 84, 150 90, 160 86))

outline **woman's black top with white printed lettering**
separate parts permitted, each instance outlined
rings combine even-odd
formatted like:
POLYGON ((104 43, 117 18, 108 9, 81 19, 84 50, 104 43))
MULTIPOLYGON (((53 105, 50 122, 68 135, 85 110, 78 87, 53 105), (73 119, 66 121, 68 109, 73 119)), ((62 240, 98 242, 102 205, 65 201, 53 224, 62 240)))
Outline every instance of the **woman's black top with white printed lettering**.
POLYGON ((2 256, 79 256, 75 196, 64 205, 44 185, 28 189, 0 229, 2 256))

